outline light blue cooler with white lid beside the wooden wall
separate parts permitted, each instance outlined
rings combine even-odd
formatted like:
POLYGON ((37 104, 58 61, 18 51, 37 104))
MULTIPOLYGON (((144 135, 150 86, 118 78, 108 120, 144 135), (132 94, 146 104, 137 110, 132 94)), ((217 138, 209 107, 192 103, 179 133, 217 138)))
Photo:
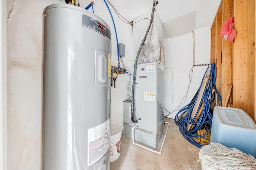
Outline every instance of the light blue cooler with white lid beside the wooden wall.
POLYGON ((242 109, 214 107, 210 142, 239 149, 256 158, 256 124, 242 109))

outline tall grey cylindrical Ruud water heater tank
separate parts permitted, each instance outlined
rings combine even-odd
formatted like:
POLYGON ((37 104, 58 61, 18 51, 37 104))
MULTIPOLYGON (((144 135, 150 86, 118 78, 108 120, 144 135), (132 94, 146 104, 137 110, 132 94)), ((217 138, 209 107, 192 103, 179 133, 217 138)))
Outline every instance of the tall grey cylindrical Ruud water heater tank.
POLYGON ((44 170, 109 170, 111 33, 67 4, 43 13, 44 170))

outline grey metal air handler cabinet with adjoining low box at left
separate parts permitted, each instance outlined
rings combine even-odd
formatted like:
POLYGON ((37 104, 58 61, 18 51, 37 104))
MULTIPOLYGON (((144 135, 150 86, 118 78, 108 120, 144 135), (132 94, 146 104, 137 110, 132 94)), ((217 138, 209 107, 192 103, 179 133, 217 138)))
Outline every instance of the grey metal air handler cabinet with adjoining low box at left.
MULTIPOLYGON (((164 134, 164 71, 157 63, 138 64, 135 82, 134 106, 138 127, 135 129, 135 141, 156 149, 164 134)), ((130 124, 130 101, 124 106, 124 135, 132 138, 130 124), (128 119, 129 118, 129 119, 128 119), (128 119, 128 120, 127 120, 128 119)))

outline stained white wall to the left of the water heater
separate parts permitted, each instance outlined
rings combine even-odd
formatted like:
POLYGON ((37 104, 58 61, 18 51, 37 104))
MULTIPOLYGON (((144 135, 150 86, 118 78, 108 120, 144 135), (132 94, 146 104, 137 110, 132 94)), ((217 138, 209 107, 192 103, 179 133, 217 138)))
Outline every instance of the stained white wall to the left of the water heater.
POLYGON ((34 170, 42 155, 42 11, 55 1, 8 1, 7 169, 34 170))

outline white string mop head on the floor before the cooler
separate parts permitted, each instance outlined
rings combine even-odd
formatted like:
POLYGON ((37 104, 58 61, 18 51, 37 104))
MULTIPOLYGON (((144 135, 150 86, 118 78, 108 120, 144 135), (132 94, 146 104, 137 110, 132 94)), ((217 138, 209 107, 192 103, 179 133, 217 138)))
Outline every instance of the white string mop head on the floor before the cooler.
POLYGON ((202 170, 256 170, 256 159, 252 155, 220 144, 210 143, 199 151, 202 170))

